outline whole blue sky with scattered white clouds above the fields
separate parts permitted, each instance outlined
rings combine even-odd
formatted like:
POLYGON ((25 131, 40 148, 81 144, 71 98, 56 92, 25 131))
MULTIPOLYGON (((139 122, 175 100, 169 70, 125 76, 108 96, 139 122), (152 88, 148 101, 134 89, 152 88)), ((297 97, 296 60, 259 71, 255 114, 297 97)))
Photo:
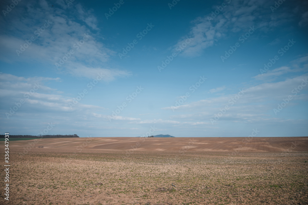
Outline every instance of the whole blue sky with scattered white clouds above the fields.
POLYGON ((1 133, 307 136, 307 7, 2 1, 1 133))

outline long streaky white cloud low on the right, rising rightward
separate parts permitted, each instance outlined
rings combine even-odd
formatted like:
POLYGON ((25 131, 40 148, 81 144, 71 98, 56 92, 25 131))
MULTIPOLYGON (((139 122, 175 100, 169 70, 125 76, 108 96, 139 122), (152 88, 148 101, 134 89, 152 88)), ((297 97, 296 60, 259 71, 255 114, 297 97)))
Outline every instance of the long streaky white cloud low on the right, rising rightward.
MULTIPOLYGON (((292 70, 290 70, 289 67, 281 67, 274 70, 276 75, 281 75, 281 72, 292 72, 292 70)), ((220 109, 224 109, 224 107, 228 105, 229 109, 221 117, 223 120, 245 122, 263 121, 265 118, 270 118, 270 116, 274 114, 273 109, 277 107, 277 104, 281 103, 282 100, 289 95, 292 95, 293 99, 288 104, 288 107, 296 105, 299 100, 308 100, 308 96, 305 94, 307 92, 305 90, 308 86, 305 89, 303 88, 301 92, 298 92, 297 95, 291 92, 307 78, 307 74, 303 74, 293 78, 287 77, 285 80, 278 82, 261 83, 245 88, 245 94, 236 100, 234 104, 230 103, 230 101, 233 102, 231 99, 235 98, 237 92, 190 102, 177 106, 175 113, 178 113, 178 115, 173 115, 171 117, 178 120, 186 119, 194 122, 209 122, 210 118, 214 117, 214 114, 221 112, 220 109), (275 93, 275 95, 273 95, 273 93, 275 93)), ((171 110, 172 108, 164 107, 162 109, 171 110)))

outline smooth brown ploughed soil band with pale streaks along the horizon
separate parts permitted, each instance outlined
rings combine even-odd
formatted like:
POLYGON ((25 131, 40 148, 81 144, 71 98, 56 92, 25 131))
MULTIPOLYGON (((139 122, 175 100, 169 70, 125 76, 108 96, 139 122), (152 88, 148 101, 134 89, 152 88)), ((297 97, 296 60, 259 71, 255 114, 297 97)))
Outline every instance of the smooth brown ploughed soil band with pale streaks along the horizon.
MULTIPOLYGON (((27 147, 14 141, 11 147, 27 147)), ((44 149, 96 149, 126 151, 308 152, 308 137, 81 137, 39 139, 44 149)))

